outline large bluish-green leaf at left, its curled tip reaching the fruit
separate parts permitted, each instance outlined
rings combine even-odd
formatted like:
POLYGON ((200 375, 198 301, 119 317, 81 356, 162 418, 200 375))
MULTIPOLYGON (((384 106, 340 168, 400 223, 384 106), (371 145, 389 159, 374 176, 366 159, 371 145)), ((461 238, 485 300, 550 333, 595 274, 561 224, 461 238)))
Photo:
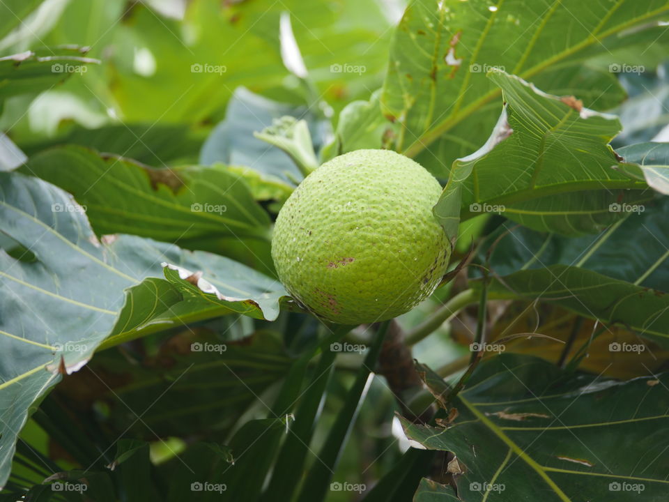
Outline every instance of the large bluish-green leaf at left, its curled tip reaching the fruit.
MULTIPOLYGON (((274 289, 266 291, 267 285, 276 284, 279 296, 284 294, 280 284, 265 278, 256 287, 261 293, 255 303, 242 298, 244 290, 236 284, 254 287, 254 279, 261 275, 213 254, 190 254, 133 236, 100 243, 72 197, 16 172, 0 173, 0 222, 1 231, 35 257, 24 261, 0 250, 0 311, 13 312, 0 319, 0 407, 8 410, 0 437, 1 483, 7 479, 16 436, 29 407, 59 381, 61 373, 86 364, 109 333, 131 329, 130 321, 142 319, 146 324, 153 314, 169 312, 170 305, 164 309, 158 305, 164 295, 170 301, 183 296, 162 282, 141 282, 148 275, 162 275, 162 261, 203 271, 222 291, 236 291, 235 298, 215 305, 219 308, 213 315, 242 309, 257 317, 258 305, 263 305, 272 317, 278 312, 278 297, 274 289), (244 284, 236 277, 243 277, 244 284), (156 285, 160 294, 151 296, 156 285), (129 288, 124 304, 123 292, 129 288), (220 308, 226 305, 229 308, 220 308)), ((204 310, 201 303, 199 308, 204 310)), ((176 317, 188 314, 192 308, 183 308, 176 317)), ((166 317, 175 316, 170 312, 162 321, 166 317)))

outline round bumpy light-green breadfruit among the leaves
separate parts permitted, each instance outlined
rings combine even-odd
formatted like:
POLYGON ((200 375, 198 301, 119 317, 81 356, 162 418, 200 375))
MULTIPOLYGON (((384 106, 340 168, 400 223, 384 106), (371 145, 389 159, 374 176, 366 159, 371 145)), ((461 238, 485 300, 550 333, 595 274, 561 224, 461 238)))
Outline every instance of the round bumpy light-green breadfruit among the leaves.
POLYGON ((441 193, 421 165, 387 150, 325 162, 286 201, 272 236, 279 279, 339 324, 392 319, 429 296, 449 246, 432 214, 441 193))

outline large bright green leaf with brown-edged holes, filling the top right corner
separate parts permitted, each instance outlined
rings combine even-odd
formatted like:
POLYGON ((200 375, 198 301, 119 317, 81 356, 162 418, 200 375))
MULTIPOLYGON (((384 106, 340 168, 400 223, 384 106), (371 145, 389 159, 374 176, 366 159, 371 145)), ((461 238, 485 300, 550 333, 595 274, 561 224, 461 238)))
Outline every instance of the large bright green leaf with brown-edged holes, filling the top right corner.
POLYGON ((429 148, 417 160, 445 177, 449 162, 493 126, 489 105, 499 90, 484 78, 493 67, 550 93, 585 98, 583 89, 601 89, 585 105, 613 107, 624 95, 606 64, 633 63, 620 51, 664 40, 656 22, 668 15, 664 0, 587 9, 579 0, 413 0, 395 32, 383 86, 385 114, 402 126, 396 149, 414 157, 429 148), (594 58, 606 64, 584 70, 594 58))

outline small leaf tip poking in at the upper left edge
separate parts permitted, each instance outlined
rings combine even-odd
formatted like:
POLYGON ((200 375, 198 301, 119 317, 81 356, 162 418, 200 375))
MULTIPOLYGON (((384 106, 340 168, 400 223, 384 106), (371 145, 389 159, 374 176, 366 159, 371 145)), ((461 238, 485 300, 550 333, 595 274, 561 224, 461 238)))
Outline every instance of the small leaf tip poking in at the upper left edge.
POLYGON ((72 74, 86 72, 86 65, 100 63, 83 54, 86 54, 85 47, 26 51, 0 57, 0 105, 10 96, 52 89, 72 74))

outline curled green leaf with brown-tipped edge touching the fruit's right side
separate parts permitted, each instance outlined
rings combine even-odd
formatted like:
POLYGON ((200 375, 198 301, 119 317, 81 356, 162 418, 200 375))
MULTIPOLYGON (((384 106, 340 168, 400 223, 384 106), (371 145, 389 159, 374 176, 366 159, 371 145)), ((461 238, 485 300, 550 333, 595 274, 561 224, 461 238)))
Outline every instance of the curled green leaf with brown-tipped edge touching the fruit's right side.
MULTIPOLYGON (((620 218, 608 210, 614 190, 646 185, 613 169, 620 161, 608 142, 620 130, 617 119, 502 71, 489 77, 502 88, 506 105, 488 142, 454 162, 434 208, 449 238, 457 235, 461 207, 470 214, 504 212, 532 228, 569 235, 620 218), (599 190, 606 195, 593 197, 599 190)), ((629 197, 638 202, 637 195, 629 197)))

